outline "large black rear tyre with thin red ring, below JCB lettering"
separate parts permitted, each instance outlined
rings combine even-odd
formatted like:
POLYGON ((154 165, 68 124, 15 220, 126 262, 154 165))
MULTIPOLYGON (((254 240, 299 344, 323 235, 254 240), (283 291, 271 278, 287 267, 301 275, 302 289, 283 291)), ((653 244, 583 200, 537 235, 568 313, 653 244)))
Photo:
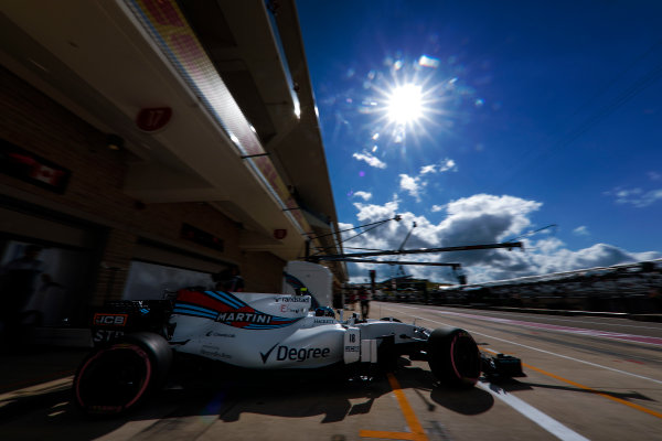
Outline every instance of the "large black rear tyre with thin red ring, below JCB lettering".
POLYGON ((163 386, 171 363, 172 349, 163 337, 128 334, 83 361, 74 377, 74 401, 88 415, 124 413, 163 386))

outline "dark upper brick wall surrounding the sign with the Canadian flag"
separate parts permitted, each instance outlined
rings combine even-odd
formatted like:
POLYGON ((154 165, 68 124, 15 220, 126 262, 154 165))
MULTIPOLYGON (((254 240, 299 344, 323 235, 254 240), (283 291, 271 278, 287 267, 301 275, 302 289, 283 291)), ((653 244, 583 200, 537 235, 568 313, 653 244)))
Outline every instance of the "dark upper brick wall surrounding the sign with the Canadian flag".
POLYGON ((104 133, 4 68, 0 90, 0 136, 72 171, 62 195, 2 174, 0 183, 122 223, 135 204, 120 191, 127 170, 125 152, 107 149, 104 133))

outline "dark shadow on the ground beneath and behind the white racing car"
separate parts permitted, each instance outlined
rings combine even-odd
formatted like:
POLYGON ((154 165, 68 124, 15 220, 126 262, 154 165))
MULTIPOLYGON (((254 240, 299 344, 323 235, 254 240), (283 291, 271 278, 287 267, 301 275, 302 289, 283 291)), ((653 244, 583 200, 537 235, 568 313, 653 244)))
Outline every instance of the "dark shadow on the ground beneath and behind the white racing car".
MULTIPOLYGON (((445 387, 428 370, 407 364, 402 359, 395 376, 402 388, 413 389, 429 411, 442 406, 459 413, 478 415, 493 405, 492 396, 484 390, 445 387)), ((128 422, 148 420, 153 422, 149 421, 132 439, 167 438, 167 433, 184 427, 193 435, 214 421, 237 421, 243 413, 284 418, 323 416, 321 423, 330 423, 370 413, 377 398, 392 392, 384 373, 375 373, 372 380, 320 376, 314 372, 253 374, 235 376, 216 370, 213 378, 189 378, 185 387, 173 383, 134 412, 111 419, 84 416, 72 405, 71 390, 63 386, 17 396, 0 402, 0 438, 89 440, 128 422)))

